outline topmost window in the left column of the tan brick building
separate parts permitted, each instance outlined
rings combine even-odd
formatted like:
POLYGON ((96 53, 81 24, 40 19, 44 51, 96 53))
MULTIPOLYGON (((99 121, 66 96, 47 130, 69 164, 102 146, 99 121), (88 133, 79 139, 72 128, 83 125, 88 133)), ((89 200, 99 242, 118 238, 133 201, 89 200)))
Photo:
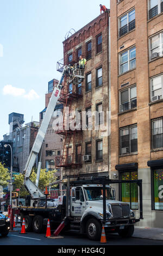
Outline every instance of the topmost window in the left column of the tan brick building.
POLYGON ((126 15, 122 16, 120 19, 120 31, 119 36, 126 34, 135 28, 135 9, 131 10, 126 15))

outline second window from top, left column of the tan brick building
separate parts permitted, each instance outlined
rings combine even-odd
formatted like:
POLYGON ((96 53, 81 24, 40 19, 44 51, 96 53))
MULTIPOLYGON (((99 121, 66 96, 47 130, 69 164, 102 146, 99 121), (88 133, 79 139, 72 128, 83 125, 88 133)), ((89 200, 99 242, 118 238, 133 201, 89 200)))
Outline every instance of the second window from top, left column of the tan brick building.
POLYGON ((136 67, 136 48, 131 48, 130 50, 120 54, 120 74, 134 69, 136 67))

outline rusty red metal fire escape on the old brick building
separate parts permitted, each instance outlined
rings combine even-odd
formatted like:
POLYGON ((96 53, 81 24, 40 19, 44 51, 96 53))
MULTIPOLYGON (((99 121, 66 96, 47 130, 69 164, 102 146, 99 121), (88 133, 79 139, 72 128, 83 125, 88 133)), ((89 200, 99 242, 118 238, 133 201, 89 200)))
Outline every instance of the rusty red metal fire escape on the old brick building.
MULTIPOLYGON (((76 141, 82 142, 82 124, 80 120, 75 118, 73 103, 83 97, 82 82, 84 79, 84 70, 77 66, 75 59, 76 52, 72 54, 72 60, 68 63, 74 67, 73 75, 66 76, 64 79, 64 87, 61 90, 58 101, 64 103, 63 124, 58 129, 57 134, 62 136, 61 156, 56 156, 56 166, 64 168, 79 168, 82 166, 82 146, 76 149, 76 141), (71 130, 73 124, 75 129, 71 130), (78 125, 79 124, 79 125, 78 125), (80 126, 80 127, 79 127, 80 126)), ((57 71, 62 72, 64 68, 64 60, 57 63, 57 71)))

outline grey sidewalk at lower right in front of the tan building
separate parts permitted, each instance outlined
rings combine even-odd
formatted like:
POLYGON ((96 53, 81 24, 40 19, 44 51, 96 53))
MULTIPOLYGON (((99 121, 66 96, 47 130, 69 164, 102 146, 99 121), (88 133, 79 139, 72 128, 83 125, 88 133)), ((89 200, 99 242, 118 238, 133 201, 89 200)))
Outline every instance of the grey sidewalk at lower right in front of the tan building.
POLYGON ((135 227, 133 237, 162 240, 163 242, 163 228, 135 227))

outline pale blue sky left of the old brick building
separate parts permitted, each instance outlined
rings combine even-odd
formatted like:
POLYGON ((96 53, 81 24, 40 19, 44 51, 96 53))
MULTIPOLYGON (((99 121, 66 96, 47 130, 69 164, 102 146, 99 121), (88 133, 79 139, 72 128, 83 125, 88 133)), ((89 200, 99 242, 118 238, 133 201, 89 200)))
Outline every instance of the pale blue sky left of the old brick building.
POLYGON ((57 61, 71 28, 95 19, 109 1, 0 0, 0 140, 9 132, 8 115, 39 121, 48 81, 60 78, 57 61))

